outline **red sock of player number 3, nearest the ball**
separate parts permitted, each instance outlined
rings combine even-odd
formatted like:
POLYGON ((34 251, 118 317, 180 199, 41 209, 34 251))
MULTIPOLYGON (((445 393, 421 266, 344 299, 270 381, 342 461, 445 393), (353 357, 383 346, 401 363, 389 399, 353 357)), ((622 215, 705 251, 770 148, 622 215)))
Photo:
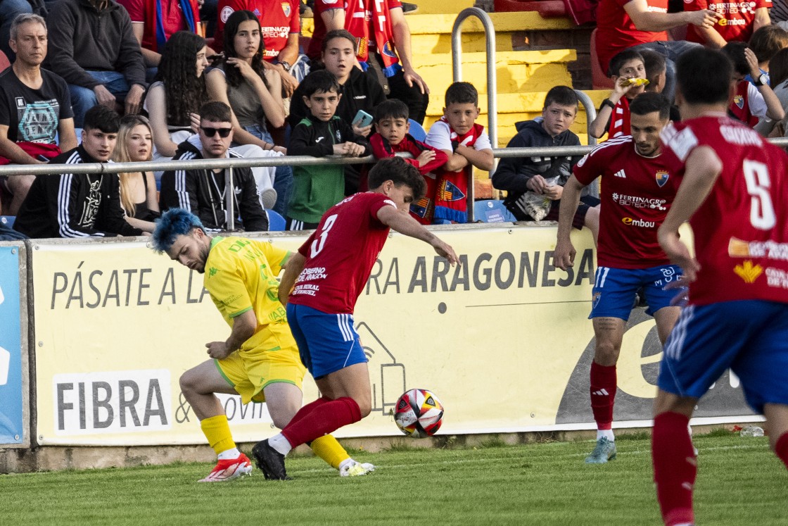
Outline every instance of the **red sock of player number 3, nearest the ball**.
POLYGON ((282 435, 288 439, 291 446, 296 447, 359 420, 361 420, 359 405, 351 397, 341 397, 323 402, 297 422, 293 418, 282 430, 282 435))

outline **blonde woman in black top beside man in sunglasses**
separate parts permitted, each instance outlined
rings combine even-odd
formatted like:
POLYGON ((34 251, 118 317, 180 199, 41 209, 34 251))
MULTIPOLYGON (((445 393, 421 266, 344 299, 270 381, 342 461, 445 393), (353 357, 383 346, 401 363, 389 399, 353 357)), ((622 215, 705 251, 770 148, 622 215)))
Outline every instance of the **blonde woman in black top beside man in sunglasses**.
MULTIPOLYGON (((142 115, 121 119, 117 144, 112 155, 115 162, 143 162, 153 158, 151 124, 142 115)), ((129 225, 152 233, 158 218, 158 199, 153 172, 118 173, 121 181, 121 207, 129 225)))

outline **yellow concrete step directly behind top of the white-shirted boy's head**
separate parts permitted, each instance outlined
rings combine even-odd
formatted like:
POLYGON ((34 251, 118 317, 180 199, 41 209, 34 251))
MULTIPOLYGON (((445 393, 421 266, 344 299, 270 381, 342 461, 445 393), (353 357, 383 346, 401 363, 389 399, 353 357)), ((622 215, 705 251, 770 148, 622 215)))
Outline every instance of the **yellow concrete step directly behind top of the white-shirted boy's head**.
MULTIPOLYGON (((574 50, 507 51, 496 54, 498 93, 547 91, 557 84, 571 85, 567 63, 574 62, 574 50)), ((416 71, 437 94, 442 107, 443 94, 452 83, 452 58, 448 54, 427 54, 415 59, 416 71)), ((487 93, 487 56, 463 53, 463 80, 474 84, 480 94, 487 93)))

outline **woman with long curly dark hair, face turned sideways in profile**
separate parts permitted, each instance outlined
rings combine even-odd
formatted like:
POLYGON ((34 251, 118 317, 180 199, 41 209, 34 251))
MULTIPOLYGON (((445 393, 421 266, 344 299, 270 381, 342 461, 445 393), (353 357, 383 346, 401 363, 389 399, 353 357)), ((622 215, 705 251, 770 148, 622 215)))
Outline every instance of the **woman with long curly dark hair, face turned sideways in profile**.
POLYGON ((172 158, 178 144, 196 133, 197 110, 208 102, 203 75, 207 66, 202 36, 179 31, 169 37, 145 99, 154 132, 154 160, 172 158))

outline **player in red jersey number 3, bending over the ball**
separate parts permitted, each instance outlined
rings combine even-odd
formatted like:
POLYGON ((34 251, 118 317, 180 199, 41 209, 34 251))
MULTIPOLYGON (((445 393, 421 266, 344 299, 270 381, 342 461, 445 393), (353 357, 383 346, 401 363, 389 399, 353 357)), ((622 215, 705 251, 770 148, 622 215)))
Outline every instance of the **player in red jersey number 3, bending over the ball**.
POLYGON ((279 299, 299 353, 322 397, 303 406, 278 435, 258 442, 252 455, 266 479, 287 479, 284 455, 370 414, 370 375, 353 326, 353 309, 370 270, 395 229, 426 241, 457 263, 454 249, 408 214, 425 192, 424 178, 403 159, 384 159, 370 171, 370 192, 329 208, 282 276, 279 299), (289 293, 289 298, 288 298, 289 293))

